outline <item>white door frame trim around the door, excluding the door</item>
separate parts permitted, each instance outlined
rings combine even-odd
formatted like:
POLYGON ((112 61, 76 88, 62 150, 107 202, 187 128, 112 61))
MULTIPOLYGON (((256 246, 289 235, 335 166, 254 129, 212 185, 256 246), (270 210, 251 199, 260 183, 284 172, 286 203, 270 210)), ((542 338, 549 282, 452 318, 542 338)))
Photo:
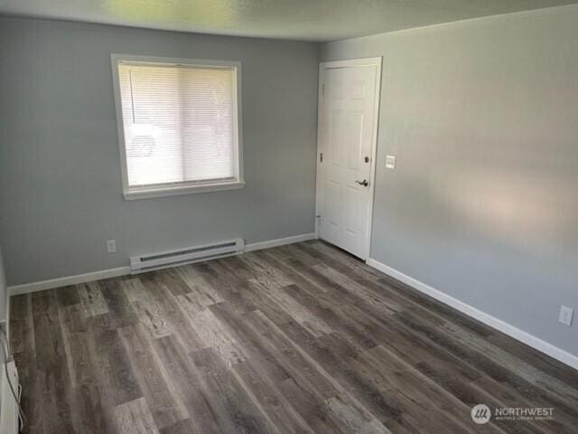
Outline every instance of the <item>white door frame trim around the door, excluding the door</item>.
POLYGON ((368 210, 366 212, 366 242, 365 242, 365 258, 367 260, 370 257, 371 252, 371 232, 373 231, 373 203, 375 198, 375 181, 376 181, 376 159, 378 153, 378 129, 379 129, 379 107, 381 103, 381 64, 383 58, 380 57, 370 57, 364 59, 350 59, 343 61, 321 61, 319 63, 319 89, 318 89, 318 99, 317 99, 317 152, 315 155, 315 238, 319 239, 319 222, 320 222, 320 195, 321 195, 321 152, 324 149, 324 144, 322 143, 321 134, 321 118, 323 109, 323 92, 325 84, 325 71, 338 69, 338 68, 363 68, 368 66, 376 67, 376 83, 375 83, 375 103, 374 103, 374 125, 372 127, 372 140, 371 140, 371 161, 369 162, 369 203, 368 210))

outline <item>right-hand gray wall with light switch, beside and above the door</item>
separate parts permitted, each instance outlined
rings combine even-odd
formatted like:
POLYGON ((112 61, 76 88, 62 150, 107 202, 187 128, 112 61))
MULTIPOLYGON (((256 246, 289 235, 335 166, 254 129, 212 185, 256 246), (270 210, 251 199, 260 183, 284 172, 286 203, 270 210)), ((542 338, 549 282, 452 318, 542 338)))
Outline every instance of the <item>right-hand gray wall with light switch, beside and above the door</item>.
POLYGON ((577 42, 574 5, 321 47, 384 56, 371 256, 573 354, 577 42))

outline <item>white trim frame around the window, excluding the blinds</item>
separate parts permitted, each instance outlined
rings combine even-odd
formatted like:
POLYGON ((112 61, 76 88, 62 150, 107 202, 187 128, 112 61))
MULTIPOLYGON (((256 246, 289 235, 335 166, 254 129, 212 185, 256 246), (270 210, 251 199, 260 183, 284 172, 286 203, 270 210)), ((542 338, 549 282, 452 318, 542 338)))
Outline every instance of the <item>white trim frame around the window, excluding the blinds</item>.
POLYGON ((134 54, 112 53, 113 88, 115 93, 115 108, 117 110, 117 135, 118 149, 120 154, 120 172, 123 184, 123 196, 125 200, 147 199, 161 196, 173 196, 177 194, 209 193, 224 190, 237 190, 245 186, 243 175, 243 116, 241 101, 241 62, 240 61, 213 61, 207 59, 180 59, 173 57, 140 56, 134 54), (126 161, 125 122, 123 119, 122 99, 120 92, 120 80, 118 64, 157 64, 173 66, 190 66, 200 68, 232 68, 233 70, 233 153, 236 176, 233 180, 219 180, 190 183, 167 183, 150 186, 130 187, 128 185, 128 167, 126 161))

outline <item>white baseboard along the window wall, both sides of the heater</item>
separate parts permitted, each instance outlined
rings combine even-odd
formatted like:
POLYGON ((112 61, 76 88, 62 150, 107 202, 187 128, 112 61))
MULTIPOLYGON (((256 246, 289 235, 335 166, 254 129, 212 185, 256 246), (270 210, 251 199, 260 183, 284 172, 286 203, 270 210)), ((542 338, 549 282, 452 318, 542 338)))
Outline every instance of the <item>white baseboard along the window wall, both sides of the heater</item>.
MULTIPOLYGON (((246 244, 245 251, 270 249, 272 247, 284 246, 285 244, 293 244, 294 242, 309 241, 314 239, 314 232, 303 233, 301 235, 294 235, 293 237, 246 244)), ((45 289, 61 288, 67 285, 77 285, 79 283, 93 282, 102 278, 117 278, 118 276, 126 276, 130 273, 130 267, 119 267, 117 269, 102 269, 99 271, 93 271, 91 273, 78 274, 76 276, 51 278, 49 280, 41 280, 40 282, 24 283, 23 285, 8 287, 8 295, 10 297, 18 296, 20 294, 28 294, 29 292, 43 291, 45 289)))

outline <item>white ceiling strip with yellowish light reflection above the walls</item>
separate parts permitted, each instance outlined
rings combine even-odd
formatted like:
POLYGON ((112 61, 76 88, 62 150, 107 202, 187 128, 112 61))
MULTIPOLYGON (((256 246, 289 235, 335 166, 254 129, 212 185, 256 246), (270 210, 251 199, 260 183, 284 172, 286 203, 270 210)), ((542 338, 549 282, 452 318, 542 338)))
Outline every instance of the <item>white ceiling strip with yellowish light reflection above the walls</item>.
POLYGON ((0 13, 330 41, 578 0, 0 0, 0 13))

